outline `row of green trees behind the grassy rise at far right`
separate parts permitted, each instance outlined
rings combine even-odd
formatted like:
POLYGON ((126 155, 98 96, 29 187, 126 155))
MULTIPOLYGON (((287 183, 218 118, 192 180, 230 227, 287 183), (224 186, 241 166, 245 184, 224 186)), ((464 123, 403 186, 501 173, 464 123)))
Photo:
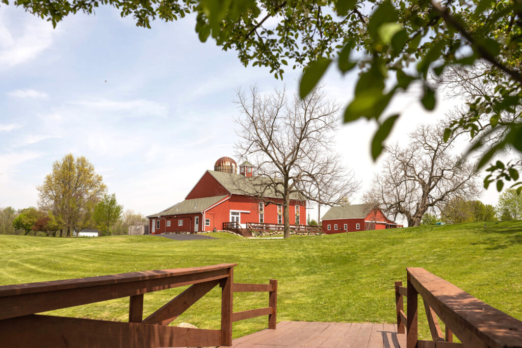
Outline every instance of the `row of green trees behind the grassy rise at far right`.
POLYGON ((422 225, 434 225, 437 222, 465 223, 497 220, 522 219, 522 195, 516 189, 507 189, 499 197, 494 207, 480 200, 464 200, 455 198, 448 201, 440 209, 440 215, 426 213, 422 217, 422 225))

